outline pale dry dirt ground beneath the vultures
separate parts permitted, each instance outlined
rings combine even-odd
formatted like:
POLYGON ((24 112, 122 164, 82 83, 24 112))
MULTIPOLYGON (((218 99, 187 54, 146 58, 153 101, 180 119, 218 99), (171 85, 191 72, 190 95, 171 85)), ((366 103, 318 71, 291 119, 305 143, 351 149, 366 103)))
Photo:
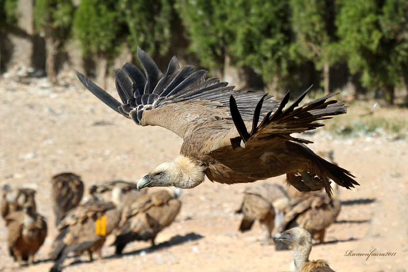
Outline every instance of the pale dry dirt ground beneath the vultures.
MULTIPOLYGON (((48 237, 36 255, 37 263, 19 268, 7 252, 7 229, 0 223, 0 270, 48 271, 47 260, 56 236, 49 179, 72 171, 86 187, 112 180, 136 181, 157 164, 172 160, 182 139, 160 127, 140 127, 99 102, 71 78, 65 86, 50 87, 45 79, 0 79, 0 182, 37 188, 38 211, 47 218, 48 237), (25 83, 24 83, 25 82, 25 83)), ((115 92, 114 84, 108 89, 115 92)), ((358 106, 355 106, 358 107, 358 106)), ((349 109, 349 112, 353 108, 349 109)), ((408 116, 407 111, 402 114, 408 116)), ((335 121, 335 119, 329 120, 335 121)), ((387 135, 341 138, 320 130, 307 138, 315 151, 333 149, 340 166, 350 170, 361 186, 341 190, 337 222, 328 228, 326 242, 313 247, 311 259, 325 259, 336 271, 393 271, 408 269, 408 143, 387 135), (395 252, 395 256, 345 256, 347 251, 395 252)), ((267 181, 284 184, 284 177, 267 181)), ((288 271, 292 252, 275 252, 261 245, 256 224, 240 233, 235 214, 247 187, 206 181, 183 190, 182 211, 149 243, 133 242, 123 256, 105 245, 104 258, 87 256, 65 261, 66 271, 288 271)))

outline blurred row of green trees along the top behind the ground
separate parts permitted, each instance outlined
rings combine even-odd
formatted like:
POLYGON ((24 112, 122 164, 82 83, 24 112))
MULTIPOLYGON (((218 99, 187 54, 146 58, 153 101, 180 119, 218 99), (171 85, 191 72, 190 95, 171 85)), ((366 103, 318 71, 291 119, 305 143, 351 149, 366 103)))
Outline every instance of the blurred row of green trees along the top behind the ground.
POLYGON ((407 14, 406 0, 0 0, 0 64, 105 85, 139 46, 162 70, 175 55, 240 88, 406 105, 407 14))

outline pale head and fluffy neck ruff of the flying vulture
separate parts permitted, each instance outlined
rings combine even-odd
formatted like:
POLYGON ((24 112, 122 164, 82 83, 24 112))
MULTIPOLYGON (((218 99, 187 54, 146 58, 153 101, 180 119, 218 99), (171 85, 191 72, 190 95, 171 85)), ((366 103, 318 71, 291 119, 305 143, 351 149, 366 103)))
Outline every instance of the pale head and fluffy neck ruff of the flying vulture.
POLYGON ((204 167, 180 155, 172 162, 165 162, 137 182, 137 189, 145 187, 194 188, 204 181, 204 167))

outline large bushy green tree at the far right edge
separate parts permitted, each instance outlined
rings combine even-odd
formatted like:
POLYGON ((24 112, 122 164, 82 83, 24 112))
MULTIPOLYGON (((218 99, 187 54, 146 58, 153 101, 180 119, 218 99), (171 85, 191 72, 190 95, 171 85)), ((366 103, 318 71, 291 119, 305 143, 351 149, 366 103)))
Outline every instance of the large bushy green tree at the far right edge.
POLYGON ((380 89, 391 104, 394 88, 406 73, 406 14, 406 0, 343 0, 337 18, 350 71, 361 73, 362 84, 380 89))

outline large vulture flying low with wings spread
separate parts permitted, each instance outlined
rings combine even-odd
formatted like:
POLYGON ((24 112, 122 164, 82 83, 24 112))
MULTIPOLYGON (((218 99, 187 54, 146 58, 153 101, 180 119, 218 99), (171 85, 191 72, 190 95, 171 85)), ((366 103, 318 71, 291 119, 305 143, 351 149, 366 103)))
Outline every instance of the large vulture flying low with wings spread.
POLYGON ((298 106, 305 91, 290 106, 289 92, 282 102, 263 92, 234 90, 206 70, 180 68, 176 57, 163 74, 146 52, 137 55, 145 75, 126 63, 115 72, 121 103, 77 72, 79 80, 114 111, 141 126, 161 126, 184 139, 180 155, 137 182, 139 189, 154 186, 194 188, 207 176, 211 181, 247 183, 286 174, 300 191, 324 188, 328 179, 350 189, 359 185, 353 175, 317 156, 295 138, 323 126, 317 121, 346 113, 344 103, 326 95, 298 106))

